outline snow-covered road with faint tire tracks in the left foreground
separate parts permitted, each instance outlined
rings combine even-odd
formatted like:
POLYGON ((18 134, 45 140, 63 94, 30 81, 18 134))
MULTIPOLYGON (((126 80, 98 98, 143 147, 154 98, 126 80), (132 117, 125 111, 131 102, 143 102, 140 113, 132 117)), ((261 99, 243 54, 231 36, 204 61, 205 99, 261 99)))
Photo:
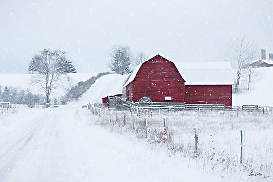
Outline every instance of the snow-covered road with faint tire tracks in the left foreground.
POLYGON ((218 181, 183 158, 90 124, 71 107, 19 109, 0 122, 0 182, 218 181), (184 162, 183 162, 184 161, 184 162))

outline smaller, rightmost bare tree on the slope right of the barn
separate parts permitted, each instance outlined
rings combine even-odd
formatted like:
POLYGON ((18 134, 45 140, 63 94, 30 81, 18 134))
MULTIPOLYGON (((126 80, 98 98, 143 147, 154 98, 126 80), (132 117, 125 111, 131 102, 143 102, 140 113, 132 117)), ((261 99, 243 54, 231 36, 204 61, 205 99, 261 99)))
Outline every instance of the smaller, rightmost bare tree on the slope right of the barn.
POLYGON ((251 61, 255 60, 258 57, 258 50, 253 49, 249 52, 249 58, 246 65, 246 74, 247 74, 247 90, 250 88, 250 83, 252 82, 254 76, 256 75, 256 67, 250 66, 251 61))

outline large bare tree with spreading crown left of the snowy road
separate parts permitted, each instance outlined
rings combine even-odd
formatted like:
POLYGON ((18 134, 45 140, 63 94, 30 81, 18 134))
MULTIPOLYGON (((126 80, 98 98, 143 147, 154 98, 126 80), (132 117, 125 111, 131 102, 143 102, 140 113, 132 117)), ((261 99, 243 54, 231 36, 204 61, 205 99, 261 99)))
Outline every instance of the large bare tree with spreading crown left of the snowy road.
POLYGON ((65 53, 59 50, 43 49, 29 63, 28 71, 36 73, 32 76, 32 83, 41 87, 41 91, 46 95, 47 103, 50 101, 52 90, 58 87, 62 75, 76 72, 71 61, 66 59, 65 53))

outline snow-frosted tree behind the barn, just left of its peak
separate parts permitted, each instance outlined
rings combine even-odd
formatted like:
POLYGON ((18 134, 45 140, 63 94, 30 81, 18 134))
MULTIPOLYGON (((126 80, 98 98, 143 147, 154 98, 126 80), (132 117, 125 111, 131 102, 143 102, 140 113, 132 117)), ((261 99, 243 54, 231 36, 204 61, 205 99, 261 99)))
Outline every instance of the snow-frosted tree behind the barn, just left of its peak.
POLYGON ((119 74, 130 72, 132 52, 128 46, 115 45, 110 53, 111 61, 109 67, 119 74))

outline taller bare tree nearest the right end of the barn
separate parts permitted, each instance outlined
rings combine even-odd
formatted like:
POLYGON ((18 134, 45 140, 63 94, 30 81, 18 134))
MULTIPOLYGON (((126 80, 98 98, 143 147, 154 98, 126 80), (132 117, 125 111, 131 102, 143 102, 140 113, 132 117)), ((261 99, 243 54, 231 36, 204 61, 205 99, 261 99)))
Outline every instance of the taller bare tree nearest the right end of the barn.
POLYGON ((251 54, 255 52, 255 48, 252 42, 246 40, 245 37, 236 39, 233 44, 230 45, 230 62, 236 72, 236 80, 234 86, 234 93, 239 91, 239 84, 241 76, 244 73, 244 67, 247 66, 251 54))

